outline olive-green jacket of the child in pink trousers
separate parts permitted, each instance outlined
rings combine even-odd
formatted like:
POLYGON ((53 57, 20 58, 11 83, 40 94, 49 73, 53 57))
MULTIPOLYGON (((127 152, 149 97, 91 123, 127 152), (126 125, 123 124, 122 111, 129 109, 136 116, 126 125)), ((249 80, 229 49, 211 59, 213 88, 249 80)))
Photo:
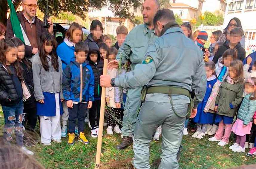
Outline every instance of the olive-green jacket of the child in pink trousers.
POLYGON ((226 80, 220 85, 220 92, 215 104, 218 105, 217 114, 234 117, 237 107, 243 99, 243 84, 230 84, 226 80), (230 107, 230 103, 233 108, 230 107))

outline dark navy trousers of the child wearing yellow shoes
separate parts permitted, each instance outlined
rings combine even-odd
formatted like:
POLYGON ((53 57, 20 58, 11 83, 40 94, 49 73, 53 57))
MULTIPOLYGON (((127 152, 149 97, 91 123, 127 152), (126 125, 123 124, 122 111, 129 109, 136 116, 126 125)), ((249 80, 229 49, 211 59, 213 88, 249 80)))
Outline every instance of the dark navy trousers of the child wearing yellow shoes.
MULTIPOLYGON (((84 132, 85 130, 85 114, 87 111, 88 103, 73 103, 73 108, 68 108, 68 124, 69 124, 69 132, 75 133, 76 127, 76 119, 78 124, 78 132, 84 132)), ((95 121, 94 121, 95 123, 95 121)))

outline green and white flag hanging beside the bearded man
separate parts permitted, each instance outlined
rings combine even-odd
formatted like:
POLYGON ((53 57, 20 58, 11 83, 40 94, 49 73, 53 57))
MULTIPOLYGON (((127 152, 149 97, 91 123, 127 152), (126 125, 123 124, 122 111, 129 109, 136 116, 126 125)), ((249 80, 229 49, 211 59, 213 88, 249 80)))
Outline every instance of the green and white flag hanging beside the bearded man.
POLYGON ((13 27, 14 36, 22 40, 26 45, 31 46, 24 29, 20 24, 16 10, 13 6, 12 0, 7 0, 7 2, 10 8, 10 20, 13 27))

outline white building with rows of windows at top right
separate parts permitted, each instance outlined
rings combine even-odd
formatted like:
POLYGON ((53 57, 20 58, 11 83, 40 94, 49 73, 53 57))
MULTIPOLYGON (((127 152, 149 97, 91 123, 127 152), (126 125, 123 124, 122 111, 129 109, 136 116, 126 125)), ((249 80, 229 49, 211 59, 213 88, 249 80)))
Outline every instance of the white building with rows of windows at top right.
POLYGON ((247 52, 256 50, 256 0, 226 0, 227 7, 225 12, 223 28, 227 26, 230 19, 237 17, 240 19, 246 36, 247 52))

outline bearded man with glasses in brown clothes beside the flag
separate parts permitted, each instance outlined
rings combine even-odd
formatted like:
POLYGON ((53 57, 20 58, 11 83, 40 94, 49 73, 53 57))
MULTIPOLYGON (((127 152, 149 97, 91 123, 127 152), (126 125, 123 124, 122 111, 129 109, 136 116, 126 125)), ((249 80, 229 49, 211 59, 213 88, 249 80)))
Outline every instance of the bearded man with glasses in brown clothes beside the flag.
MULTIPOLYGON (((40 46, 40 36, 42 32, 46 31, 46 29, 43 28, 43 22, 36 16, 36 10, 38 8, 37 0, 22 0, 22 8, 23 12, 19 13, 17 16, 25 35, 29 40, 29 44, 26 43, 25 45, 26 56, 31 58, 38 52, 38 47, 40 46)), ((53 24, 51 24, 50 20, 48 20, 48 23, 50 24, 48 32, 53 34, 53 24)), ((7 21, 6 30, 6 39, 13 38, 14 33, 10 18, 7 21)))

